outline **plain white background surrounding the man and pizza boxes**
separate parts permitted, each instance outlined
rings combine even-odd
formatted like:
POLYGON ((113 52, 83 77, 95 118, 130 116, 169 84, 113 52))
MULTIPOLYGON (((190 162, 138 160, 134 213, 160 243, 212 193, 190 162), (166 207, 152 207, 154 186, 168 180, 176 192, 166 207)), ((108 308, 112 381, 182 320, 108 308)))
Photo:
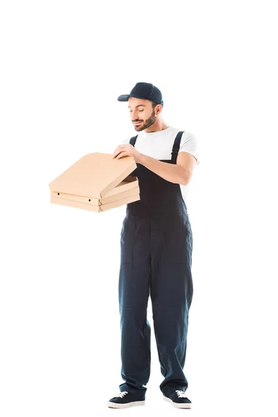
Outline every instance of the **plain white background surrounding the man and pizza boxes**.
POLYGON ((275 1, 2 1, 1 416, 174 414, 152 373, 119 393, 117 285, 126 206, 50 204, 48 184, 135 130, 138 81, 194 133, 194 295, 184 372, 192 416, 277 415, 275 1))

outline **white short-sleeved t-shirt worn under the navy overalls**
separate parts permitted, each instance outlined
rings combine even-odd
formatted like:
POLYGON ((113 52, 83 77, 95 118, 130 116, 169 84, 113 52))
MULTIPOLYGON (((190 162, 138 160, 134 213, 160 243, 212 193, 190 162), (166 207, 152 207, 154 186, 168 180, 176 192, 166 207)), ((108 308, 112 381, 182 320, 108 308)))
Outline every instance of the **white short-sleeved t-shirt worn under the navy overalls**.
MULTIPOLYGON (((130 138, 124 139, 120 145, 129 143, 129 140, 132 136, 138 135, 134 145, 138 152, 155 159, 172 159, 171 152, 174 145, 174 139, 176 138, 179 131, 182 131, 182 129, 176 129, 173 126, 169 126, 167 129, 157 132, 147 133, 145 130, 143 130, 137 133, 135 131, 134 134, 130 136, 130 138)), ((188 152, 188 154, 195 156, 197 165, 199 165, 197 140, 193 133, 183 131, 179 152, 188 152)), ((179 184, 181 187, 181 195, 184 202, 186 202, 189 185, 190 184, 184 186, 183 184, 179 184)))

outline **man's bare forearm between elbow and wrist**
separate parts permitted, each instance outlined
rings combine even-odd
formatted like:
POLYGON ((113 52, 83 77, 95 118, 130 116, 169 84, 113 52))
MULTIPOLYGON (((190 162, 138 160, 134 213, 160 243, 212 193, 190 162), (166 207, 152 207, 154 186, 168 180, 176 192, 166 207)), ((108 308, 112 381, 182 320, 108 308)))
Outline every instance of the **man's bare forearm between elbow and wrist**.
POLYGON ((139 154, 136 163, 144 165, 149 170, 159 175, 163 179, 172 183, 184 184, 187 183, 186 170, 180 165, 158 161, 158 159, 150 156, 139 154))

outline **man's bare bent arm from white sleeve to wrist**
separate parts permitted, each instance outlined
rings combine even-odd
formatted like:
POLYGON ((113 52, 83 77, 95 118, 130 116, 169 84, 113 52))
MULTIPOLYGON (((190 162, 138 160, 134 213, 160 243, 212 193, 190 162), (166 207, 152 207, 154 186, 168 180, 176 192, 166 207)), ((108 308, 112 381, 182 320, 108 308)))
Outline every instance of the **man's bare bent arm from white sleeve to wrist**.
POLYGON ((172 183, 183 184, 186 186, 196 165, 196 159, 188 152, 179 152, 177 164, 158 161, 150 156, 139 154, 136 163, 144 165, 155 174, 172 183))

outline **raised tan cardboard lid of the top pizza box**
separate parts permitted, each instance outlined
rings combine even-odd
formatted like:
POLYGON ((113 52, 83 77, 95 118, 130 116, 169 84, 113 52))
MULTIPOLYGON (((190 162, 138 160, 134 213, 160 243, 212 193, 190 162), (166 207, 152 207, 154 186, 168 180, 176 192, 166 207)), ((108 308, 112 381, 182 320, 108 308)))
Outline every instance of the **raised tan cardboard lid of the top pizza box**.
POLYGON ((93 152, 82 156, 49 183, 51 191, 101 198, 136 170, 133 156, 113 158, 113 154, 93 152))

